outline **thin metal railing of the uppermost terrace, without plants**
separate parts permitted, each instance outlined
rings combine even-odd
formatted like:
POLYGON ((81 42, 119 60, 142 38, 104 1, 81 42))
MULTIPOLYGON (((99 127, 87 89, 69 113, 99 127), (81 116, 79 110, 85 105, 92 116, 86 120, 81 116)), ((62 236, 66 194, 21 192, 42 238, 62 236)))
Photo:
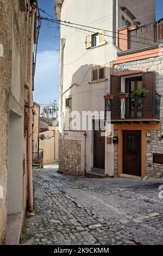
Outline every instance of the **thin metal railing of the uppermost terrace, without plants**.
POLYGON ((129 48, 159 43, 163 39, 163 23, 152 23, 129 31, 129 48))

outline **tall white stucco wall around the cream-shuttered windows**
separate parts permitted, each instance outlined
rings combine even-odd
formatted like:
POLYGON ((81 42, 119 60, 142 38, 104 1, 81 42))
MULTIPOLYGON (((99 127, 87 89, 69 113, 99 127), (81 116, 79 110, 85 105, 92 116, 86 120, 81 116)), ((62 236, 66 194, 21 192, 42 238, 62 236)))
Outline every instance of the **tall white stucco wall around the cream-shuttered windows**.
MULTIPOLYGON (((68 96, 72 97, 72 110, 79 111, 104 111, 104 95, 110 92, 110 69, 109 63, 116 59, 117 48, 112 44, 112 33, 106 32, 106 44, 98 47, 93 47, 87 50, 85 48, 85 37, 93 34, 93 32, 99 32, 101 30, 112 31, 113 27, 120 25, 122 11, 121 7, 126 6, 128 9, 134 8, 132 13, 136 16, 139 14, 147 14, 154 10, 154 5, 148 7, 144 5, 144 8, 135 8, 139 5, 146 4, 146 0, 136 1, 114 1, 114 0, 64 0, 61 8, 62 21, 70 21, 72 23, 78 23, 85 26, 96 27, 99 29, 85 28, 91 32, 81 31, 80 26, 78 29, 70 28, 67 26, 61 26, 61 38, 65 38, 64 48, 64 68, 63 68, 63 97, 62 97, 62 109, 65 112, 65 99, 68 96), (117 7, 117 17, 114 19, 115 14, 115 2, 117 7), (113 26, 113 20, 117 21, 117 25, 113 26), (100 83, 91 82, 91 69, 97 65, 105 66, 106 81, 100 83), (72 84, 78 84, 72 86, 72 84)), ((152 1, 154 3, 154 1, 152 1)), ((154 21, 154 15, 145 16, 145 21, 150 23, 154 21)), ((71 25, 70 25, 71 26, 71 25)), ((81 127, 81 130, 82 127, 81 127)), ((62 132, 62 131, 60 131, 62 132)), ((64 135, 65 139, 80 139, 82 141, 82 162, 84 164, 84 131, 71 132, 67 131, 64 135)), ((112 136, 114 133, 112 131, 112 136)), ((93 165, 93 132, 87 132, 86 141, 86 169, 89 170, 93 165)), ((84 166, 82 165, 82 168, 84 166)), ((114 147, 113 144, 105 145, 105 172, 114 174, 114 147)))

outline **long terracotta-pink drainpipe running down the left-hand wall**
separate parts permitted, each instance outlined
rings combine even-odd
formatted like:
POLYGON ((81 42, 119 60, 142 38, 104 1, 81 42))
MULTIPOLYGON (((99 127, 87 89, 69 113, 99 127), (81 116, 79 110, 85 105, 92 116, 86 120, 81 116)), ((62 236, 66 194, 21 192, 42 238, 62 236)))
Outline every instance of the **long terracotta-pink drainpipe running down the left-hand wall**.
POLYGON ((28 179, 28 211, 33 211, 33 180, 32 180, 32 123, 33 123, 33 47, 34 47, 34 22, 36 3, 31 4, 30 10, 30 44, 29 44, 29 77, 28 77, 28 125, 27 125, 27 179, 28 179))

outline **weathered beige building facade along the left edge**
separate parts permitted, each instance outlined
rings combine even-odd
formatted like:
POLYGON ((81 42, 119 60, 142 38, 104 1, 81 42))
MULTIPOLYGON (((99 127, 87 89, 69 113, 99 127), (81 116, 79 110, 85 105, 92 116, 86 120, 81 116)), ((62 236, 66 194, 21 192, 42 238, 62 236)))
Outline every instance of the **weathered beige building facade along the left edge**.
POLYGON ((11 242, 12 224, 21 228, 26 212, 28 91, 24 84, 30 19, 26 4, 30 8, 28 0, 0 1, 0 244, 11 242))

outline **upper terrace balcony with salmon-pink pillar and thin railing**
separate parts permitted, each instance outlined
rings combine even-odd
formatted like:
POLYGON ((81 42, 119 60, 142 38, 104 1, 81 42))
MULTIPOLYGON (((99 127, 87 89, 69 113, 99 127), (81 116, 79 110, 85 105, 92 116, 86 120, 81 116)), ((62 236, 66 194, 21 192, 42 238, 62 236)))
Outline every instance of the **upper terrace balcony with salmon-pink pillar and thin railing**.
POLYGON ((163 42, 163 23, 155 22, 136 27, 126 26, 118 29, 118 47, 122 51, 153 46, 163 42))

